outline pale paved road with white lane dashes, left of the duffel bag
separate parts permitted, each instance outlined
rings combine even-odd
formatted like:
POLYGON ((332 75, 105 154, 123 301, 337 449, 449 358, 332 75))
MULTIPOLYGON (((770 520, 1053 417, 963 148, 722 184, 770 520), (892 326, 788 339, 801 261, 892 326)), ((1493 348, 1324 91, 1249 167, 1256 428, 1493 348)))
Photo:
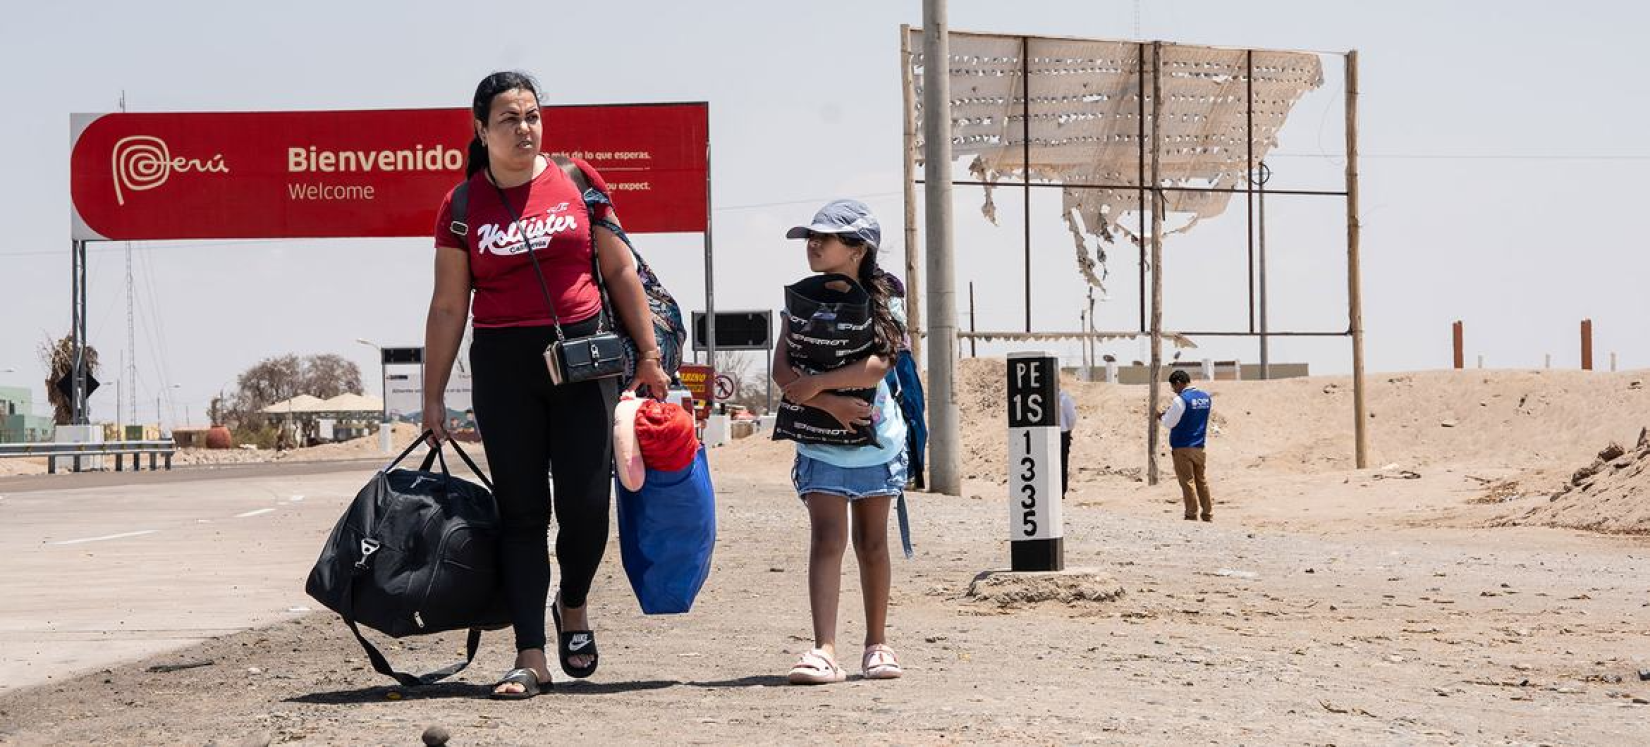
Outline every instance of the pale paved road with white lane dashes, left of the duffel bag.
POLYGON ((381 460, 0 480, 0 691, 297 617, 381 460))

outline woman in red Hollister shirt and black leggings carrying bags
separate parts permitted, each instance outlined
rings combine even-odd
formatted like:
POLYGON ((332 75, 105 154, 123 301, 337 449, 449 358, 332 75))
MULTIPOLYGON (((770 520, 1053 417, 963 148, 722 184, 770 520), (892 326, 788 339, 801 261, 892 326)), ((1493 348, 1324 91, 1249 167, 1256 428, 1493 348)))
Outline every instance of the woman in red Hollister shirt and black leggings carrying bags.
MULTIPOLYGON (((609 323, 622 323, 640 351, 630 389, 663 394, 647 297, 630 251, 607 229, 596 231, 569 175, 540 152, 538 91, 523 73, 493 73, 475 87, 474 139, 467 167, 469 204, 454 224, 452 193, 436 221, 436 290, 424 327, 424 424, 447 439, 442 392, 472 313, 470 371, 475 420, 485 434, 498 514, 503 523, 500 576, 515 627, 515 668, 495 698, 533 698, 549 686, 544 607, 549 595, 546 533, 554 510, 561 587, 551 615, 558 658, 569 676, 596 671, 596 638, 586 613, 591 580, 607 546, 612 411, 617 379, 551 383, 544 348, 597 330, 602 298, 591 272, 601 264, 610 297, 609 323), (464 236, 454 233, 464 229, 464 236), (531 249, 528 249, 531 246, 531 249), (536 261, 536 267, 535 267, 536 261), (553 308, 551 308, 553 307, 553 308), (549 485, 554 480, 554 506, 549 485), (564 623, 564 625, 563 625, 564 623)), ((574 160, 591 186, 601 175, 574 160)), ((610 204, 597 218, 617 224, 610 204)))

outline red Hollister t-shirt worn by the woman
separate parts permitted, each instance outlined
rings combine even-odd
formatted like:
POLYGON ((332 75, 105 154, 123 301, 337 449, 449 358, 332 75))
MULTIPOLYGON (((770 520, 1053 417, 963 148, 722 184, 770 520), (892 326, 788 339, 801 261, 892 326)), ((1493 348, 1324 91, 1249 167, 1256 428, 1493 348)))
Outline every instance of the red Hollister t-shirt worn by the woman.
MULTIPOLYGON (((574 158, 591 186, 607 191, 607 183, 589 163, 574 158)), ((556 302, 563 323, 582 322, 601 310, 602 300, 591 275, 591 226, 584 201, 573 180, 549 162, 543 173, 503 191, 518 221, 498 203, 498 190, 487 171, 470 176, 470 204, 465 223, 469 241, 452 233, 452 191, 436 214, 436 247, 469 251, 470 287, 475 300, 470 315, 475 327, 549 327, 549 307, 540 290, 533 262, 526 254, 526 237, 544 272, 544 285, 556 302), (469 246, 464 246, 469 244, 469 246)), ((597 218, 610 218, 612 208, 599 206, 597 218)))

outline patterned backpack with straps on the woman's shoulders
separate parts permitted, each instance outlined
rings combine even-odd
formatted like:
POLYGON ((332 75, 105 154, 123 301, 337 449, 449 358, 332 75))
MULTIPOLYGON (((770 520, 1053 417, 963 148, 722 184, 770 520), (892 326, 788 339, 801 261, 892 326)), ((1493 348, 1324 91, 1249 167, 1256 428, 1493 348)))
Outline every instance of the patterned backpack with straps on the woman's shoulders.
MULTIPOLYGON (((584 176, 584 171, 579 170, 578 163, 573 163, 571 158, 554 155, 551 157, 551 160, 558 167, 561 167, 561 171, 573 180, 574 186, 578 186, 581 193, 584 193, 584 209, 586 214, 589 216, 592 239, 596 226, 601 226, 606 228, 607 231, 612 231, 614 236, 617 236, 619 241, 622 241, 624 246, 630 249, 630 257, 635 259, 635 275, 642 280, 642 292, 647 294, 647 308, 653 317, 653 340, 658 341, 658 353, 660 353, 658 363, 660 366, 665 368, 665 376, 670 376, 670 381, 675 383, 676 369, 681 368, 681 348, 688 341, 688 327, 681 322, 681 305, 676 303, 676 298, 670 295, 670 290, 665 290, 665 285, 658 282, 658 275, 655 275, 653 269, 648 267, 645 259, 642 259, 642 252, 635 251, 635 244, 630 242, 630 236, 624 233, 624 228, 620 228, 614 221, 596 219, 597 204, 612 204, 612 200, 607 198, 607 193, 592 188, 589 180, 584 176)), ((449 231, 452 231, 464 246, 470 246, 469 244, 470 228, 465 223, 469 213, 469 203, 470 203, 470 180, 464 180, 452 191, 452 224, 449 226, 449 231)), ((620 331, 624 330, 622 323, 619 325, 619 330, 620 331)), ((630 381, 635 378, 639 350, 635 346, 635 340, 632 340, 630 335, 620 335, 620 336, 624 338, 624 351, 625 351, 624 381, 630 381)))

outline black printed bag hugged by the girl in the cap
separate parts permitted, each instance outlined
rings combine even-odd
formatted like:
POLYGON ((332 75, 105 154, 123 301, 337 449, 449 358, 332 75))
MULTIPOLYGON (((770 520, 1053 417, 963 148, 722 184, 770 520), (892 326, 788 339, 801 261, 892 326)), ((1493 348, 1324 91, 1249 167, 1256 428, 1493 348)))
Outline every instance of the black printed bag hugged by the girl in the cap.
MULTIPOLYGON (((785 353, 804 374, 833 371, 865 359, 876 345, 871 295, 848 275, 812 275, 785 285, 785 353), (840 289, 846 284, 846 290, 840 289), (832 287, 838 285, 838 287, 832 287)), ((876 388, 832 389, 833 394, 874 404, 876 388)), ((818 407, 779 401, 774 440, 863 447, 876 442, 870 425, 845 427, 818 407)))

